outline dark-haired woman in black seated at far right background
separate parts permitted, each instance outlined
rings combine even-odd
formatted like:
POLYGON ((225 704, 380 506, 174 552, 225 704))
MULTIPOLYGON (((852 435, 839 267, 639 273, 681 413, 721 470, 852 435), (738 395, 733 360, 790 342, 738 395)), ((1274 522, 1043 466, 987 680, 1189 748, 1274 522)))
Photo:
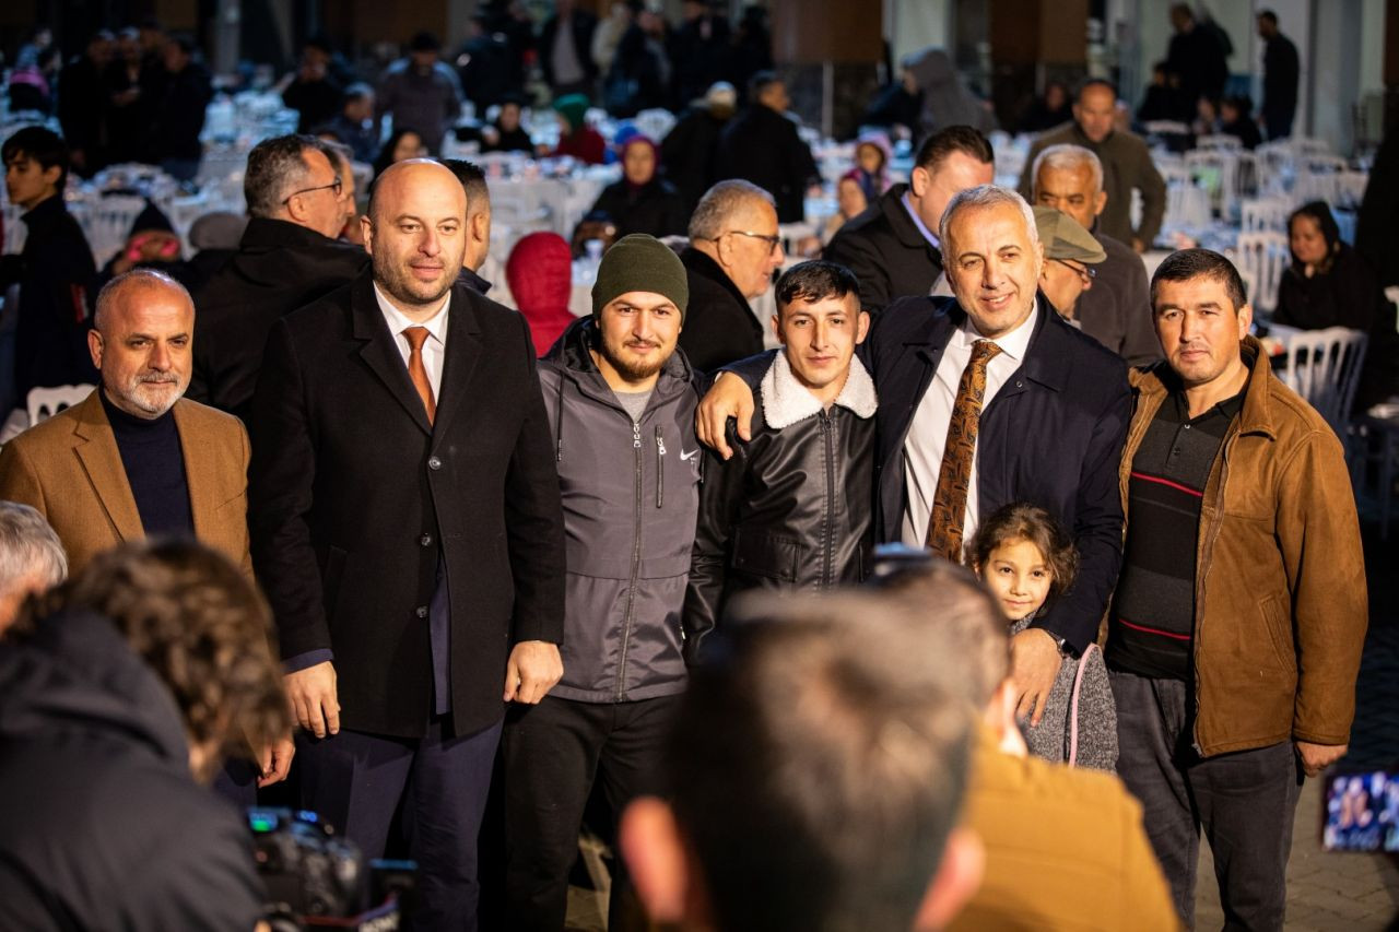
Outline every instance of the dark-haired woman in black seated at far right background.
POLYGON ((1293 263, 1277 283, 1273 323, 1301 330, 1347 327, 1370 336, 1356 409, 1382 402, 1399 389, 1399 333, 1395 308, 1385 301, 1370 264, 1346 242, 1330 207, 1302 204, 1287 218, 1293 263))

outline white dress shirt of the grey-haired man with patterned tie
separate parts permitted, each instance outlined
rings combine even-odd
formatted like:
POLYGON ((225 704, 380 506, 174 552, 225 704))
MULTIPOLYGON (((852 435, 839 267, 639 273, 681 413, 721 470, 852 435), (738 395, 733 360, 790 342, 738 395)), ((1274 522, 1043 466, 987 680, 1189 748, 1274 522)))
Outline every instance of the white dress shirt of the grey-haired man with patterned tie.
MULTIPOLYGON (((1004 385, 1025 358, 1030 336, 1039 319, 1037 308, 1025 322, 1003 337, 992 340, 1000 353, 986 364, 986 395, 981 410, 985 413, 990 399, 1004 385)), ((943 469, 943 449, 947 446, 947 427, 953 420, 953 406, 957 403, 957 385, 963 369, 971 361, 971 346, 983 339, 972 326, 971 318, 951 334, 937 372, 923 392, 914 421, 908 425, 904 441, 904 486, 908 490, 908 505, 904 509, 904 529, 900 539, 909 547, 923 547, 928 543, 928 518, 933 514, 933 495, 937 493, 937 473, 943 469)), ((979 435, 978 435, 979 437, 979 435)), ((977 459, 981 444, 971 462, 971 487, 967 491, 967 515, 963 519, 963 543, 977 533, 981 514, 977 508, 977 459)))

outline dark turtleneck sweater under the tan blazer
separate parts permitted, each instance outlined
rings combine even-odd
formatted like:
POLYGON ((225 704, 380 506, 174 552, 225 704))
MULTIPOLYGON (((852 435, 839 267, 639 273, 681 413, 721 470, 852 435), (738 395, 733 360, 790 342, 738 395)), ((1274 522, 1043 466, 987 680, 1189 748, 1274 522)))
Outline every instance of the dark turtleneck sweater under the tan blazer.
POLYGON ((189 481, 185 479, 185 452, 179 445, 175 413, 165 411, 154 420, 127 414, 98 392, 106 420, 116 437, 126 481, 141 515, 147 537, 193 537, 194 514, 189 507, 189 481))

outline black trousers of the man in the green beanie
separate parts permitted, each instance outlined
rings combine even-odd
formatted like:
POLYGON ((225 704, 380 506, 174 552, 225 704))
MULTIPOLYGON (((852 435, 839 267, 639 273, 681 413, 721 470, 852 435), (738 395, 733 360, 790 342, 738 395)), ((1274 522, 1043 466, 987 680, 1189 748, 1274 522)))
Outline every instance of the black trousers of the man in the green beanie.
MULTIPOLYGON (((660 761, 680 697, 575 702, 544 697, 505 718, 505 901, 511 929, 558 932, 568 912, 568 875, 593 781, 616 824, 634 798, 660 792, 660 761)), ((623 919, 621 859, 609 928, 623 919)))

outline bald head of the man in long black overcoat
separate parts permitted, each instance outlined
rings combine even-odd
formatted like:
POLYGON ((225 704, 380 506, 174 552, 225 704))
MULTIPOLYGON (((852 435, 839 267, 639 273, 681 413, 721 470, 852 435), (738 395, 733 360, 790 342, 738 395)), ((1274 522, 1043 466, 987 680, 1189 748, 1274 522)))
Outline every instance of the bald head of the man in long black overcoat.
POLYGON ((361 220, 374 280, 409 318, 441 308, 466 253, 466 192, 441 162, 410 158, 386 168, 361 220))

